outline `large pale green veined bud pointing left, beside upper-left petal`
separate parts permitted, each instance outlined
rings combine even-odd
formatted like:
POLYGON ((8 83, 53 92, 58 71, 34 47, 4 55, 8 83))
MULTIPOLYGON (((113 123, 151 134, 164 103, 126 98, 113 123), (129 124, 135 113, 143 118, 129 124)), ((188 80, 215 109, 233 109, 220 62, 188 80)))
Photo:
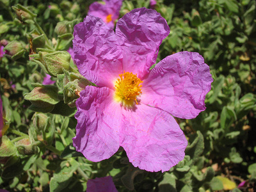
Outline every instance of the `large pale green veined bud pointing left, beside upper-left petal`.
POLYGON ((67 51, 51 51, 47 49, 37 49, 38 54, 33 54, 32 61, 40 65, 45 73, 57 77, 58 74, 63 74, 63 68, 70 70, 71 56, 67 51))

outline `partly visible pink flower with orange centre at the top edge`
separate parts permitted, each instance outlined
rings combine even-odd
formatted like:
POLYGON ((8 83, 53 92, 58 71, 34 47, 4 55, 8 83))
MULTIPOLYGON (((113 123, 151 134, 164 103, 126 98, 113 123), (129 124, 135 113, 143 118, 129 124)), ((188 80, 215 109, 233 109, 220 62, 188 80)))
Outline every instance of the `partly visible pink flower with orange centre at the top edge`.
POLYGON ((122 0, 103 0, 105 4, 94 2, 90 5, 88 15, 101 18, 109 28, 115 27, 119 17, 122 0))

